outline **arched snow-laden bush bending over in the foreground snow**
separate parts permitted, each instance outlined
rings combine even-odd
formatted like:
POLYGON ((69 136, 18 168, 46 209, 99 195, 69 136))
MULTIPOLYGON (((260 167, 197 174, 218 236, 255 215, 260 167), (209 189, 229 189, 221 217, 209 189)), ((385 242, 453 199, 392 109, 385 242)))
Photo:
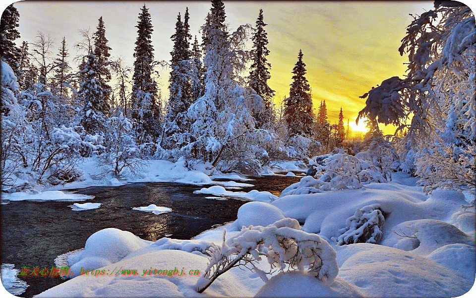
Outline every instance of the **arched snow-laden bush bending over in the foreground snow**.
POLYGON ((210 264, 205 275, 197 281, 198 293, 205 291, 220 275, 238 266, 252 269, 267 282, 266 273, 255 266, 262 256, 268 259, 271 271, 306 271, 323 282, 332 283, 339 272, 336 252, 329 243, 317 234, 302 231, 297 220, 290 218, 266 227, 250 225, 228 240, 225 240, 224 232, 222 245, 214 244, 208 250, 210 264))

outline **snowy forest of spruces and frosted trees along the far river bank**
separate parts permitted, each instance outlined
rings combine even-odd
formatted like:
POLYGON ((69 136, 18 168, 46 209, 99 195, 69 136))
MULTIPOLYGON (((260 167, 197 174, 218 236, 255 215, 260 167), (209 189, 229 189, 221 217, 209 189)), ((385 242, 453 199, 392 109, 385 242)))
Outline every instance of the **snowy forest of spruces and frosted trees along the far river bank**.
POLYGON ((171 36, 170 95, 164 101, 156 81, 156 67, 163 62, 154 57, 145 4, 138 18, 133 67, 111 57, 100 17, 96 32, 79 30, 82 40, 75 47, 81 54, 74 71, 65 37, 56 58, 53 39, 41 32, 17 47, 19 13, 13 4, 5 9, 2 184, 20 177, 53 184, 75 179, 81 157, 95 156, 105 175, 118 177, 140 171, 148 158, 181 156, 190 163, 257 173, 270 160, 301 159, 344 146, 342 108, 335 125, 328 122, 325 101, 313 111, 301 50, 282 110, 272 103, 262 9, 255 28, 246 24, 231 32, 225 4, 212 0, 201 43, 196 36, 192 42, 188 8, 183 20, 179 13, 171 36), (8 77, 8 68, 16 80, 8 77))

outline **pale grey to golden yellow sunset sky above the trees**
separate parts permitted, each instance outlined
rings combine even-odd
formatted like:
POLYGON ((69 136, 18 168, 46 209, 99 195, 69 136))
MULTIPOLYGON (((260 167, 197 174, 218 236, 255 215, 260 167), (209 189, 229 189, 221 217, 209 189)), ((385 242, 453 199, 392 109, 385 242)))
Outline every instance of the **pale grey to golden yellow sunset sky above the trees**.
MULTIPOLYGON (((291 72, 302 49, 314 106, 317 108, 321 100, 326 100, 331 124, 337 122, 342 107, 351 125, 365 105, 365 100, 358 96, 388 77, 405 74, 404 63, 408 58, 400 56, 398 47, 413 19, 409 14, 421 14, 433 6, 433 1, 224 2, 232 30, 245 23, 254 26, 259 9, 263 9, 264 21, 268 24, 265 27, 270 50, 268 60, 272 65, 268 82, 277 91, 275 102, 289 94, 291 72)), ((14 5, 20 13, 21 38, 16 43, 32 42, 37 31, 41 31, 56 40, 56 55, 60 40, 66 36, 73 57, 76 54, 73 44, 80 40, 78 30, 91 27, 95 32, 98 19, 103 16, 106 37, 113 49, 111 55, 122 56, 132 65, 137 38, 134 26, 143 4, 144 1, 17 2, 14 5)), ((174 34, 178 13, 183 18, 186 6, 191 34, 201 41, 199 29, 211 7, 210 1, 145 1, 145 4, 152 16, 156 59, 170 61, 173 47, 170 36, 174 34)), ((168 72, 164 70, 161 75, 163 94, 168 93, 168 72)))

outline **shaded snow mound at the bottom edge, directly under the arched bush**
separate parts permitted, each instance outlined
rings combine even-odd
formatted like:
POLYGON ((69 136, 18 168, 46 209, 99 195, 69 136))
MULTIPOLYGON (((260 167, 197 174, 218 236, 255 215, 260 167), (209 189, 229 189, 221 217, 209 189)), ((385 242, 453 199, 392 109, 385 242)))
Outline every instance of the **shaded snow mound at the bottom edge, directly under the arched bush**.
POLYGON ((255 297, 363 297, 357 287, 341 278, 325 284, 314 276, 299 272, 281 272, 273 276, 255 297))

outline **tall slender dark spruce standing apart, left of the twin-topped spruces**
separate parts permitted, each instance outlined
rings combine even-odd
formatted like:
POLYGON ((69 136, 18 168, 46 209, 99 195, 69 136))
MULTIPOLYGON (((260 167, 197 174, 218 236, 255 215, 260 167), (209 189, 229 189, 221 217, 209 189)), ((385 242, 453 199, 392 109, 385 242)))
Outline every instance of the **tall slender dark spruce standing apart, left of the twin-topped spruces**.
MULTIPOLYGON (((137 144, 155 143, 159 136, 161 108, 156 101, 157 83, 152 78, 154 48, 151 36, 152 23, 147 7, 141 8, 137 22, 137 40, 134 52, 134 74, 132 75, 132 118, 135 120, 137 144)), ((153 149, 155 152, 155 149, 153 149)), ((153 152, 152 152, 153 153, 153 152)))

